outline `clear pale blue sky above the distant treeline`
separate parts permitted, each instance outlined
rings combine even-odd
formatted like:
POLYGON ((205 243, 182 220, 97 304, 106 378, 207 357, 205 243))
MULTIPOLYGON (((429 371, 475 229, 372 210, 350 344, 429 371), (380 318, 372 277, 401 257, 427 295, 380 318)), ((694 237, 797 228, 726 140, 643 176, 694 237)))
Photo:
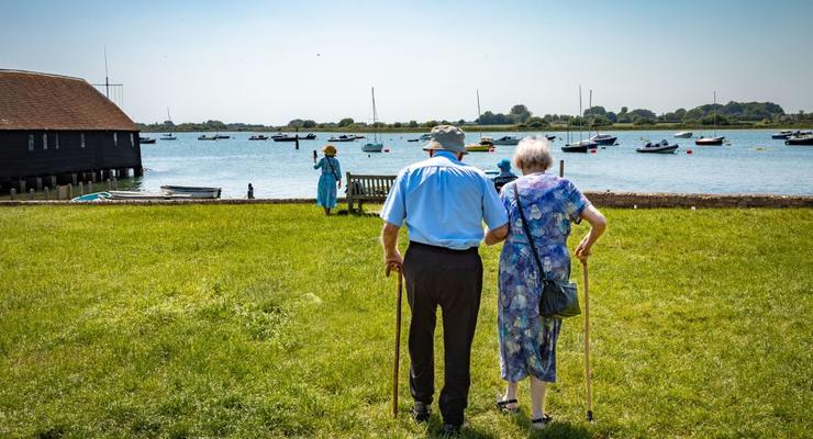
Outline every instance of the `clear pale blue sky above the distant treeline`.
MULTIPOLYGON (((811 0, 0 0, 0 68, 124 85, 135 121, 474 120, 523 103, 813 111, 811 0), (794 16, 803 18, 794 22, 794 16)), ((2 99, 2 97, 0 97, 2 99)))

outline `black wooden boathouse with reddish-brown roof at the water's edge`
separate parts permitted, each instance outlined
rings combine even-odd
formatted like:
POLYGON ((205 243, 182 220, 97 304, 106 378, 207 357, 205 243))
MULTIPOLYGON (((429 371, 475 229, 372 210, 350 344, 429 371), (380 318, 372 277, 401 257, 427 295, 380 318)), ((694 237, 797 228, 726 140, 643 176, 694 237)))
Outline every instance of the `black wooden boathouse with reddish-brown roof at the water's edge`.
POLYGON ((0 69, 0 187, 142 175, 138 130, 83 79, 0 69))

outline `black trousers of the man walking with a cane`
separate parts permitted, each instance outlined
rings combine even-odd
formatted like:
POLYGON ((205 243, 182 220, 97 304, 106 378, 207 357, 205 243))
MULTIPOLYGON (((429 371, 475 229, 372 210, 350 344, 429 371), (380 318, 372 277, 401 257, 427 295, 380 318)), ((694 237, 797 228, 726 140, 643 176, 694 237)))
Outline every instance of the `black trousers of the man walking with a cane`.
POLYGON ((450 250, 410 243, 403 262, 410 323, 410 391, 432 404, 435 393, 434 336, 437 306, 443 313, 444 386, 441 414, 445 424, 461 425, 468 405, 471 341, 482 292, 482 261, 477 248, 450 250))

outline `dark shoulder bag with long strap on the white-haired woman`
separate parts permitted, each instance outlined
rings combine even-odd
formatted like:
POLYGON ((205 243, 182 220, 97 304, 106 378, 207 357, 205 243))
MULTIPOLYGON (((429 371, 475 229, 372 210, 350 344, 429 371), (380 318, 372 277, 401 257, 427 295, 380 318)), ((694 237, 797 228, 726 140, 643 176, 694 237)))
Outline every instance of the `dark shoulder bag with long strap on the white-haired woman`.
POLYGON ((516 210, 520 211, 520 218, 522 219, 522 228, 525 230, 525 237, 531 245, 531 254, 534 256, 536 267, 539 269, 542 274, 542 297, 539 299, 539 315, 543 317, 552 318, 567 318, 573 317, 581 314, 579 307, 579 293, 576 289, 576 283, 559 282, 552 279, 547 279, 545 269, 539 260, 539 254, 536 251, 536 245, 534 244, 534 237, 531 235, 531 227, 527 225, 525 219, 525 213, 520 203, 520 185, 514 184, 514 200, 516 201, 516 210))

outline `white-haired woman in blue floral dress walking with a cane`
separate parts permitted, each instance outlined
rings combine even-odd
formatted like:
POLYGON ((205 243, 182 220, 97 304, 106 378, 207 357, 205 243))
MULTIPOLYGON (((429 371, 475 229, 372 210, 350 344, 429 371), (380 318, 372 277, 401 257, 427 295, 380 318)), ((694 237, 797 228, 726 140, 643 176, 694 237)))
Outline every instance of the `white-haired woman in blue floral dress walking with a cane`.
POLYGON ((511 229, 500 257, 498 300, 500 372, 508 381, 508 389, 497 406, 504 412, 515 412, 519 382, 530 375, 532 426, 545 428, 550 421, 550 416, 545 414, 545 391, 547 383, 556 381, 556 340, 561 319, 539 315, 542 274, 531 255, 528 239, 534 240, 546 277, 567 281, 570 277, 567 248, 570 225, 581 219, 590 223, 590 233, 575 251, 577 258, 587 261, 593 244, 606 227, 606 219, 572 182, 545 172, 553 164, 547 140, 523 139, 513 160, 523 177, 505 184, 500 194, 511 229), (516 192, 530 237, 524 233, 514 198, 516 192))

